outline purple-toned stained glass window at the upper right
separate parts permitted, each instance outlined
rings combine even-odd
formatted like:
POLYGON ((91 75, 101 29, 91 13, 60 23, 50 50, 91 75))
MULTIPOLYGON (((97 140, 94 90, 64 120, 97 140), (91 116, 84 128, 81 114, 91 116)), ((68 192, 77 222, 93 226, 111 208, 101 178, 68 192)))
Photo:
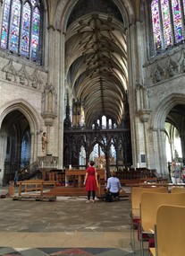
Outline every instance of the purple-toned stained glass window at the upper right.
POLYGON ((185 0, 152 0, 154 54, 184 42, 185 0))

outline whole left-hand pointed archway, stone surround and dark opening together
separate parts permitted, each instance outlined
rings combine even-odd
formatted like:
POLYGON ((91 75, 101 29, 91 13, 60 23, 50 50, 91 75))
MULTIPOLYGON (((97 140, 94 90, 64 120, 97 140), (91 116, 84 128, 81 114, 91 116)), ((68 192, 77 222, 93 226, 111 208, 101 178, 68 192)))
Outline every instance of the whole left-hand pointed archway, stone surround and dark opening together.
POLYGON ((8 173, 5 184, 21 167, 37 160, 42 126, 38 113, 22 100, 5 104, 0 112, 0 180, 3 181, 4 172, 8 173))

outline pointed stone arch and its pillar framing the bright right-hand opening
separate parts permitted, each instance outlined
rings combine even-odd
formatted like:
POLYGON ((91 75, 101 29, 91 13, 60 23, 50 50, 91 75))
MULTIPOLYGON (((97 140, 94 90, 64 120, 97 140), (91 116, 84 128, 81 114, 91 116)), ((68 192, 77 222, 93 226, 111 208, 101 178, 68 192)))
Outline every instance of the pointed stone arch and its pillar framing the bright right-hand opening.
MULTIPOLYGON (((174 117, 174 115, 181 114, 181 117, 184 116, 183 108, 181 109, 181 106, 183 106, 183 108, 185 106, 185 95, 180 93, 172 93, 158 105, 150 117, 150 128, 153 131, 151 139, 152 144, 150 146, 153 150, 150 152, 150 155, 152 155, 151 163, 152 161, 155 161, 153 164, 156 164, 156 170, 160 170, 161 175, 165 175, 168 172, 164 139, 164 124, 166 120, 177 119, 177 117, 174 117)), ((181 118, 179 117, 178 119, 181 118)), ((181 128, 185 127, 184 118, 181 119, 181 122, 181 128)), ((180 132, 182 152, 184 154, 184 129, 182 128, 180 132)))

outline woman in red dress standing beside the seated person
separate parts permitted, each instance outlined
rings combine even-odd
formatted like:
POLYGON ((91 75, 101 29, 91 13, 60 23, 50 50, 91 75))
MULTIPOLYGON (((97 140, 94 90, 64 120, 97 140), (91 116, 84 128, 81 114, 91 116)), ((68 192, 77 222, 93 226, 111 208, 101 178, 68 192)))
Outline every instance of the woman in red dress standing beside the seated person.
POLYGON ((86 176, 83 184, 86 186, 86 191, 88 191, 88 200, 90 202, 90 195, 92 193, 92 202, 95 202, 96 190, 97 190, 97 170, 94 167, 95 162, 89 161, 88 168, 86 170, 86 176))

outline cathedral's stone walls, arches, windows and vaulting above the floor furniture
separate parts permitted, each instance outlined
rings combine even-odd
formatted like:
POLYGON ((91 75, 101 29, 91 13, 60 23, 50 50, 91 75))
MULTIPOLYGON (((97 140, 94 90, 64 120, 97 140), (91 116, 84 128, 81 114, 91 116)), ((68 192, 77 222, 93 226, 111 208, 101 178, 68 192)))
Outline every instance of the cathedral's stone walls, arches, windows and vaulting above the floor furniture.
POLYGON ((0 183, 182 166, 184 22, 182 0, 1 0, 0 183))

